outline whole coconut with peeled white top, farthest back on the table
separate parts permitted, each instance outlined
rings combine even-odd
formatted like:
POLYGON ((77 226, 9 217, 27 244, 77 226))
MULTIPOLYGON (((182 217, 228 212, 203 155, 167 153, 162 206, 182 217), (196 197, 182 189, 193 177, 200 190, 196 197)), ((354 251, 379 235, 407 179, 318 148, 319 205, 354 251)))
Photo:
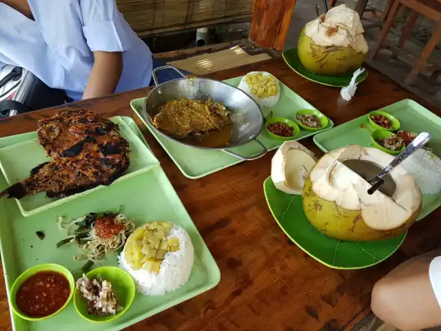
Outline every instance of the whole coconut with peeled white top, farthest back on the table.
POLYGON ((336 75, 356 70, 369 50, 360 16, 346 5, 307 23, 298 39, 298 57, 314 74, 336 75))

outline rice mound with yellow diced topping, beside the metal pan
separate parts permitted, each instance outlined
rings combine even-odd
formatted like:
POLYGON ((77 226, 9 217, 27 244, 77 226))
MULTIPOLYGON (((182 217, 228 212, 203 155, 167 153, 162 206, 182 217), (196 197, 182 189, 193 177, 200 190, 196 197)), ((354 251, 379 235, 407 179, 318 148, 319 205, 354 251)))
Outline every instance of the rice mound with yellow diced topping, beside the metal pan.
POLYGON ((269 72, 253 71, 240 80, 240 90, 247 93, 261 107, 272 107, 280 98, 280 86, 269 72))

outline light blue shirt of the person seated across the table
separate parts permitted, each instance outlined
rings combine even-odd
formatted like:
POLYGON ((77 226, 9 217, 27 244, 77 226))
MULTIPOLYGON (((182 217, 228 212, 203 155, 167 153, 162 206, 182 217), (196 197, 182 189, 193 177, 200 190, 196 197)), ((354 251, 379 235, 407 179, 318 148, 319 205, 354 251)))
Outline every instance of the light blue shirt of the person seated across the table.
POLYGON ((0 68, 23 67, 46 85, 81 99, 94 51, 123 52, 115 92, 149 86, 152 52, 114 0, 28 0, 35 21, 0 3, 0 68))

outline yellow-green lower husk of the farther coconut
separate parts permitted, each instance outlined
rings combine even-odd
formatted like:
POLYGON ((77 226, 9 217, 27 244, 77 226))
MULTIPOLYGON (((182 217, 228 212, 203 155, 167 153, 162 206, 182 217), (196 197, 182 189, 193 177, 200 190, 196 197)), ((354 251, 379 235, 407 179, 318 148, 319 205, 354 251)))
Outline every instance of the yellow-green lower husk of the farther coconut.
POLYGON ((360 68, 366 59, 366 54, 356 52, 350 47, 320 47, 305 34, 303 29, 298 39, 298 57, 310 72, 335 76, 360 68))

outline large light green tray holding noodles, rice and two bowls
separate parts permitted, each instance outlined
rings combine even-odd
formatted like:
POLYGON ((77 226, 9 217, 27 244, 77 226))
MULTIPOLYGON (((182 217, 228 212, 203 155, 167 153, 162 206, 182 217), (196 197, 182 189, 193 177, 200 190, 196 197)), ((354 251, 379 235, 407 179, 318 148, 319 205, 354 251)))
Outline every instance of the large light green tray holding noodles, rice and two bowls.
MULTIPOLYGON (((136 134, 141 134, 129 118, 136 134)), ((20 134, 0 139, 0 148, 11 143, 19 143, 29 137, 20 134)), ((140 136, 141 138, 142 136, 140 136)), ((0 189, 6 188, 6 179, 0 174, 0 189)), ((67 219, 81 217, 88 212, 119 210, 141 225, 147 221, 164 220, 183 226, 194 245, 195 257, 189 281, 183 287, 162 297, 147 297, 136 294, 134 303, 120 319, 109 323, 90 323, 79 316, 71 302, 62 312, 50 319, 28 322, 11 312, 15 331, 116 331, 142 321, 158 312, 170 308, 202 292, 213 288, 220 281, 219 268, 205 245, 201 234, 190 219, 172 184, 160 166, 137 174, 125 181, 114 183, 103 190, 90 192, 73 201, 54 208, 23 217, 17 203, 12 199, 0 199, 0 250, 8 296, 14 280, 24 270, 40 263, 59 263, 73 271, 83 262, 75 262, 72 257, 77 252, 74 245, 65 245, 57 250, 56 243, 65 238, 65 233, 57 228, 57 217, 67 219), (40 240, 35 234, 43 231, 40 240)), ((101 265, 117 265, 116 256, 107 257, 101 265)))

